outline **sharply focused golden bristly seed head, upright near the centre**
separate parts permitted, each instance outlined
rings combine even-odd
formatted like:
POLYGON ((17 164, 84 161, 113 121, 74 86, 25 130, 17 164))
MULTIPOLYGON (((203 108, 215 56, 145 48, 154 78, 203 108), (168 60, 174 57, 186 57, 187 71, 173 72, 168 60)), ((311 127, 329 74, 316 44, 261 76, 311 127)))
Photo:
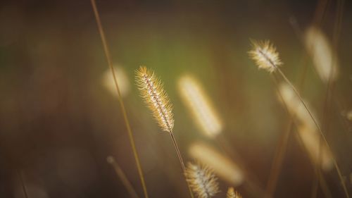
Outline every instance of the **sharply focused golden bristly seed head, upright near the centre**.
POLYGON ((145 66, 139 67, 136 71, 136 82, 142 98, 153 112, 161 129, 172 132, 174 126, 172 105, 163 89, 163 83, 145 66))

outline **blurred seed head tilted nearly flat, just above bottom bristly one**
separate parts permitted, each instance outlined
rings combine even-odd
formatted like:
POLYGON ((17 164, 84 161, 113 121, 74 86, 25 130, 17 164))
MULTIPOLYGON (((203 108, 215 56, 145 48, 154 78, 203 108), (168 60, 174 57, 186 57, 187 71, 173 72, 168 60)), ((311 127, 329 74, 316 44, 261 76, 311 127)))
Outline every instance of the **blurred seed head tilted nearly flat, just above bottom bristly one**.
POLYGON ((194 159, 208 165, 222 179, 234 186, 241 185, 244 175, 241 169, 227 156, 204 143, 191 144, 189 154, 194 159))

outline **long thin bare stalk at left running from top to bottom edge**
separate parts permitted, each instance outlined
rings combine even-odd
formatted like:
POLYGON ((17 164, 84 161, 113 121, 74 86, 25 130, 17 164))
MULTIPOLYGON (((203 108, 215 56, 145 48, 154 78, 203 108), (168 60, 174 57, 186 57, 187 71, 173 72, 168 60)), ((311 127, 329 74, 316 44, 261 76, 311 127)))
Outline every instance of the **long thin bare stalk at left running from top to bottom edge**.
POLYGON ((108 66, 109 66, 109 68, 111 70, 111 74, 113 75, 113 80, 115 82, 116 92, 118 93, 118 101, 119 101, 119 104, 120 104, 120 107, 121 107, 123 120, 125 121, 125 125, 126 125, 126 128, 127 128, 128 137, 129 137, 130 144, 131 144, 132 151, 133 151, 134 161, 136 161, 138 175, 139 175, 139 178, 141 180, 142 187, 143 187, 144 197, 148 198, 149 196, 148 196, 148 192, 146 190, 146 182, 144 181, 144 174, 143 174, 143 171, 142 171, 142 166, 141 166, 141 163, 139 162, 139 156, 137 154, 136 145, 134 143, 134 137, 133 137, 132 129, 131 129, 131 126, 130 126, 130 120, 128 120, 128 118, 127 118, 125 104, 123 103, 123 100, 122 100, 122 97, 121 97, 120 87, 118 87, 118 80, 116 78, 115 70, 113 69, 113 61, 111 60, 111 54, 110 54, 110 51, 108 49, 108 43, 106 42, 105 33, 103 31, 103 25, 101 25, 101 20, 100 20, 98 8, 96 8, 95 0, 91 0, 91 4, 92 4, 93 11, 94 11, 96 24, 98 25, 99 35, 101 37, 101 42, 103 44, 103 49, 104 49, 104 53, 105 53, 105 56, 106 56, 106 61, 108 61, 108 66))

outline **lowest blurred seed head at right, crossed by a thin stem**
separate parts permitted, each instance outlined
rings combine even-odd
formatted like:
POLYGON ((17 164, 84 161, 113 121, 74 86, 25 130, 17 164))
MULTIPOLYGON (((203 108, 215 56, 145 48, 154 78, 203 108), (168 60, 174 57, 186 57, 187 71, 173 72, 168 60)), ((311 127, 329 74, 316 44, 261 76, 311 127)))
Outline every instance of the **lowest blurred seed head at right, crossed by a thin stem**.
POLYGON ((332 154, 329 152, 326 144, 324 142, 320 142, 320 134, 315 128, 310 128, 307 125, 301 125, 298 128, 298 133, 301 136, 304 147, 306 147, 310 158, 314 163, 319 162, 320 158, 320 166, 323 171, 330 171, 334 168, 334 162, 332 159, 332 154), (320 149, 320 148, 321 149, 320 149), (320 151, 321 154, 320 154, 320 151))

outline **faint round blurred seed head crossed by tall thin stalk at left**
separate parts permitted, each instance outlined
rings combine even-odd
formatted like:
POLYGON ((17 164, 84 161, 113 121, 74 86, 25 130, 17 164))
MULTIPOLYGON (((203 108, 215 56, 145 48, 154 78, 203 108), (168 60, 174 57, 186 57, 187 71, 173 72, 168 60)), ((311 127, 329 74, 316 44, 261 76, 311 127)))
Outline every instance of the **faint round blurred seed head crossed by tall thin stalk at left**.
MULTIPOLYGON (((128 80, 128 76, 125 73, 125 70, 120 66, 114 66, 115 74, 117 75, 118 87, 120 88, 121 97, 126 97, 130 92, 130 81, 128 80)), ((118 96, 118 92, 116 90, 115 81, 113 79, 113 74, 111 73, 111 69, 109 68, 103 73, 102 82, 104 87, 108 89, 108 92, 113 94, 114 96, 118 96)))

